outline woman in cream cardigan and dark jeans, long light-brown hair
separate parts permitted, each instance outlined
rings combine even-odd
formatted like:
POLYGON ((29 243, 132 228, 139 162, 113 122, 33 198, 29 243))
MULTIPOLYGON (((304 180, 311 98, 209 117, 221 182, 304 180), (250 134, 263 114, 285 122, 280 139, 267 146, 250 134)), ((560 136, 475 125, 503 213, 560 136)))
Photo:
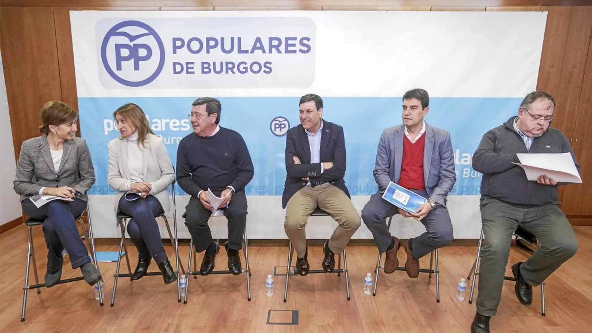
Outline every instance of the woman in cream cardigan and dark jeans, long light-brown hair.
POLYGON ((155 258, 166 284, 177 280, 162 246, 156 216, 172 215, 167 187, 175 171, 161 137, 156 136, 146 115, 136 104, 126 104, 113 112, 121 136, 109 143, 109 186, 119 191, 118 211, 131 216, 127 232, 138 249, 139 259, 132 280, 143 277, 155 258))

